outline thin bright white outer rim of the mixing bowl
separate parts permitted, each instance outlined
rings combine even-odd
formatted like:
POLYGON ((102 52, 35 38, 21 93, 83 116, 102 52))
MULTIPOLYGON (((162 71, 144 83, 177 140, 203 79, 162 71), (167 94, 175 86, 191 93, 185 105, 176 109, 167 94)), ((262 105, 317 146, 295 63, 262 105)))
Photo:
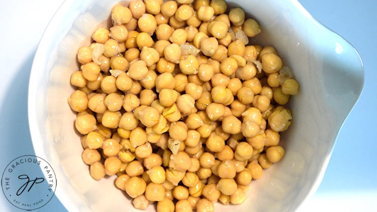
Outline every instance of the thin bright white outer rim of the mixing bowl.
MULTIPOLYGON (((41 129, 39 128, 39 125, 37 123, 37 114, 36 114, 37 84, 33 83, 33 82, 36 82, 36 79, 39 77, 38 73, 39 73, 40 69, 38 67, 41 66, 41 64, 47 64, 47 62, 48 62, 48 57, 45 55, 45 52, 48 51, 48 46, 51 43, 52 34, 54 34, 54 32, 56 31, 58 26, 60 26, 59 22, 62 22, 63 15, 67 12, 67 10, 70 9, 70 5, 72 5, 74 2, 75 2, 74 0, 65 0, 61 4, 61 6, 58 7, 57 11, 55 12, 55 14, 51 18, 49 24, 47 25, 47 27, 46 27, 46 29, 45 29, 42 37, 41 37, 41 40, 39 41, 39 44, 38 44, 38 47, 37 47, 37 50, 35 52, 35 56, 34 56, 34 59, 33 59, 31 71, 30 71, 29 86, 28 86, 29 130, 30 130, 30 135, 31 135, 31 140, 32 140, 35 155, 42 157, 42 158, 46 158, 46 154, 45 154, 45 152, 43 151, 43 148, 42 148, 42 143, 44 142, 44 140, 43 140, 41 134, 39 133, 39 132, 41 132, 41 129)), ((333 30, 329 29, 324 24, 322 24, 321 22, 316 20, 316 18, 314 18, 297 0, 284 0, 284 2, 285 2, 285 4, 291 4, 296 9, 296 11, 298 13, 300 13, 300 15, 305 17, 311 23, 314 23, 314 24, 318 25, 319 27, 322 27, 323 29, 338 35, 345 42, 347 42, 353 48, 353 50, 358 54, 361 65, 362 65, 362 85, 361 85, 362 90, 359 93, 359 96, 356 99, 356 101, 354 102, 352 108, 350 109, 350 111, 346 115, 345 119, 343 120, 341 127, 338 129, 338 131, 336 131, 335 140, 334 140, 334 143, 331 147, 331 150, 329 151, 329 155, 326 157, 326 159, 325 159, 325 161, 324 161, 324 163, 321 167, 321 170, 316 174, 313 185, 311 186, 311 188, 307 192, 307 194, 305 194, 303 201, 301 201, 300 203, 297 204, 296 209, 299 209, 299 208, 302 207, 302 205, 304 205, 314 195, 315 191, 318 189, 318 187, 321 184, 321 181, 322 181, 324 174, 325 174, 325 170, 326 170, 328 163, 329 163, 329 160, 330 160, 330 156, 331 156, 332 151, 334 149, 334 146, 336 144, 336 140, 338 139, 339 131, 343 127, 346 119, 349 116, 349 113, 353 110, 353 108, 355 107, 355 104, 359 101, 360 96, 363 92, 365 74, 364 74, 364 65, 363 65, 361 56, 360 56, 359 52, 354 48, 354 46, 352 46, 352 44, 350 44, 344 37, 335 33, 333 30)), ((73 204, 70 204, 72 202, 72 200, 70 198, 67 198, 67 196, 64 194, 64 191, 62 191, 61 189, 59 189, 57 187, 55 192, 56 192, 56 197, 59 199, 59 201, 64 205, 64 207, 66 209, 68 209, 69 211, 78 210, 77 208, 73 207, 73 204)))

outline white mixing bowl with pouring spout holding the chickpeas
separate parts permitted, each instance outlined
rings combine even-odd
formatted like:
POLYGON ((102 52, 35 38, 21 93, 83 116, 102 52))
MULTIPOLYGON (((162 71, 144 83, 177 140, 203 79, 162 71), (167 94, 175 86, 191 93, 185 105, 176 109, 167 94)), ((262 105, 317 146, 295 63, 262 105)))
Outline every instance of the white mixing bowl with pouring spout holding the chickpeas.
MULTIPOLYGON (((363 65, 347 41, 314 20, 296 0, 227 2, 259 22, 262 33, 251 43, 274 46, 301 87, 289 104, 293 120, 282 136, 284 159, 252 181, 243 204, 215 204, 215 210, 292 211, 322 180, 336 136, 362 91, 363 65)), ((115 176, 101 181, 90 177, 74 130, 75 114, 67 104, 74 90, 70 75, 78 69, 76 51, 89 45, 98 26, 110 24, 116 3, 67 0, 46 29, 31 70, 28 111, 34 150, 54 168, 56 196, 70 211, 137 211, 115 188, 115 176)))

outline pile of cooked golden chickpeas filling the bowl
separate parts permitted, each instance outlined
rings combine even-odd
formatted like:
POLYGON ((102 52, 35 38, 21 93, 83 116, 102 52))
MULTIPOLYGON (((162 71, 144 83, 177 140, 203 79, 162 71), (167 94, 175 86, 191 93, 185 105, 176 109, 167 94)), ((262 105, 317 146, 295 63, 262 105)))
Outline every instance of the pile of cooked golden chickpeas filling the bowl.
POLYGON ((224 0, 136 0, 111 18, 78 49, 70 79, 91 177, 116 175, 138 209, 244 202, 284 156, 284 105, 299 92, 273 47, 244 42, 260 26, 224 0))

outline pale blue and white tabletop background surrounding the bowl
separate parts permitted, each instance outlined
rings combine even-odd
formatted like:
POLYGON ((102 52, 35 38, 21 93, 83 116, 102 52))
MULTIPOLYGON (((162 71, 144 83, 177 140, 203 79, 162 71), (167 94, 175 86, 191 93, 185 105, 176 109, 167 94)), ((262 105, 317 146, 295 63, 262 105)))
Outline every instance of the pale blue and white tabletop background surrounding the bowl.
MULTIPOLYGON (((279 1, 279 0, 276 0, 279 1)), ((14 158, 34 153, 27 120, 27 89, 32 59, 54 11, 63 0, 0 2, 0 170, 14 158)), ((377 203, 377 2, 299 0, 316 19, 348 40, 365 67, 359 102, 339 133, 325 177, 305 210, 375 210, 377 203), (369 199, 368 199, 369 198, 369 199)), ((0 194, 0 208, 22 211, 0 194)), ((38 211, 65 211, 54 197, 38 211)))

